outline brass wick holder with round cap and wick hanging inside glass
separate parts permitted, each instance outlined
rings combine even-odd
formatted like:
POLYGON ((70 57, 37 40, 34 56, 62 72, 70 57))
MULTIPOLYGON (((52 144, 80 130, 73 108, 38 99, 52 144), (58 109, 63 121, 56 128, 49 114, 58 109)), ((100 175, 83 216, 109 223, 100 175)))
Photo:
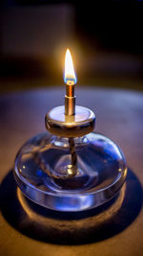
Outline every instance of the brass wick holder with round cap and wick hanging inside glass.
MULTIPOLYGON (((67 168, 67 178, 78 172, 78 160, 75 151, 74 138, 92 132, 95 125, 95 115, 92 110, 75 106, 74 85, 72 81, 66 84, 65 106, 52 108, 45 118, 46 128, 54 135, 69 138, 71 165, 67 168)), ((64 177, 65 178, 65 177, 64 177)))

